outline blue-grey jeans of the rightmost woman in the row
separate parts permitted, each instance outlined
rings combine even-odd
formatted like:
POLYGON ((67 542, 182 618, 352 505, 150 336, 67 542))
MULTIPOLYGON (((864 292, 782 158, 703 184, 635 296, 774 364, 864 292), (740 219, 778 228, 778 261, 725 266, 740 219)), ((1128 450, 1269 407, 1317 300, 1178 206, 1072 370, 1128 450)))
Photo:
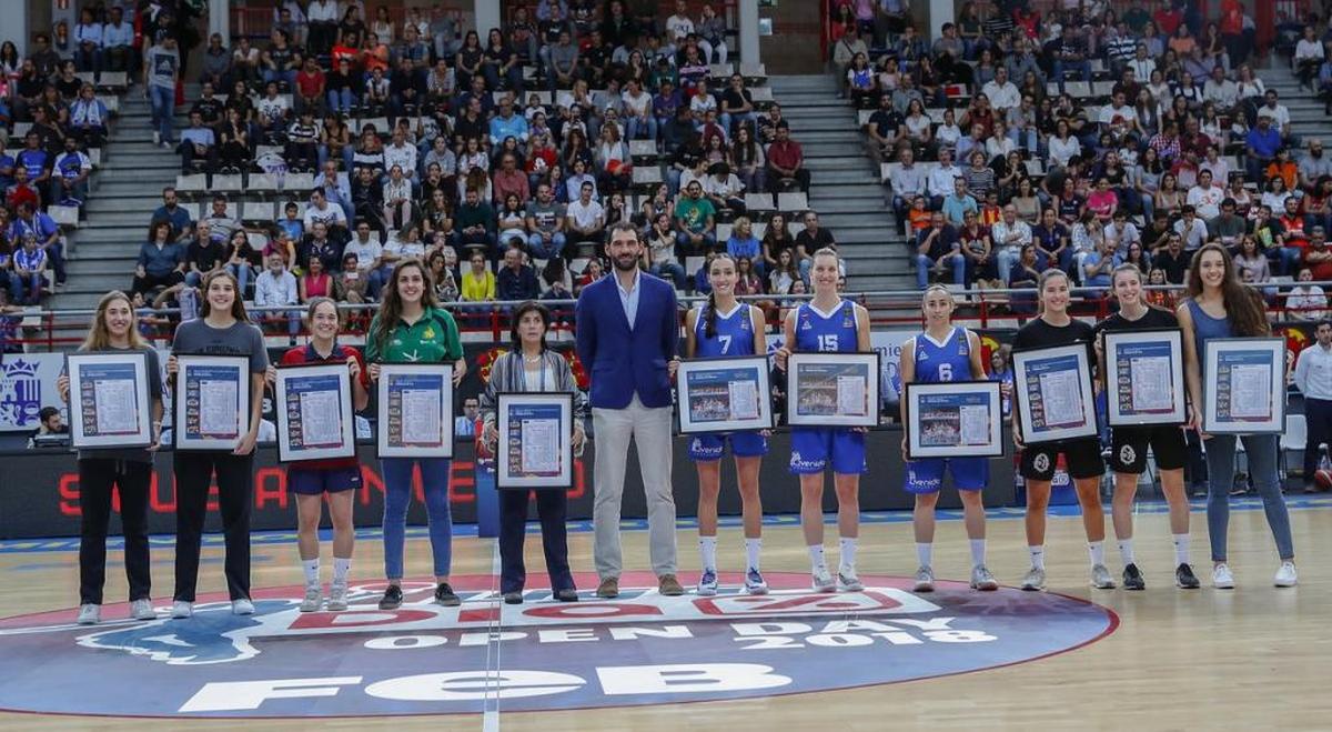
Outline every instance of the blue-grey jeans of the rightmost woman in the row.
MULTIPOLYGON (((1280 449, 1276 435, 1244 435, 1249 480, 1263 497, 1267 525, 1281 559, 1295 557, 1291 517, 1285 512, 1281 483, 1276 473, 1280 449)), ((1207 535, 1212 541, 1212 561, 1225 561, 1225 529, 1231 521, 1231 488, 1235 487, 1235 435, 1212 435, 1207 449, 1207 535)))

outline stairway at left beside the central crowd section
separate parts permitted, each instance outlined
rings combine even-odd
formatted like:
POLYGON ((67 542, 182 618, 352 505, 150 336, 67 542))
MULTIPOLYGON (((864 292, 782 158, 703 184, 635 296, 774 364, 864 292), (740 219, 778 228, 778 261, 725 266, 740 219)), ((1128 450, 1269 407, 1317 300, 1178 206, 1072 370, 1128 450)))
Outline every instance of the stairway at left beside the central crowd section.
MULTIPOLYGON (((180 109, 177 109, 180 112, 180 109)), ((65 291, 51 309, 91 309, 111 289, 128 291, 161 191, 176 183, 180 157, 153 147, 152 111, 136 85, 121 97, 107 155, 88 196, 88 219, 69 233, 73 257, 65 291)), ((177 129, 184 115, 177 115, 177 129)))

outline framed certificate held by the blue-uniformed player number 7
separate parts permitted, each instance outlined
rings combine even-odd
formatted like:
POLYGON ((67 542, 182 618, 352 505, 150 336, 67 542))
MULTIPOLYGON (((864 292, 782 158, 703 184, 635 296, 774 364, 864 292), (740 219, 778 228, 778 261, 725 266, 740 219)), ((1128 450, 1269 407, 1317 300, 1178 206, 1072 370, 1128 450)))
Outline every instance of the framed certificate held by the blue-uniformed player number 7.
POLYGON ((767 356, 681 361, 675 383, 682 433, 773 428, 767 356))

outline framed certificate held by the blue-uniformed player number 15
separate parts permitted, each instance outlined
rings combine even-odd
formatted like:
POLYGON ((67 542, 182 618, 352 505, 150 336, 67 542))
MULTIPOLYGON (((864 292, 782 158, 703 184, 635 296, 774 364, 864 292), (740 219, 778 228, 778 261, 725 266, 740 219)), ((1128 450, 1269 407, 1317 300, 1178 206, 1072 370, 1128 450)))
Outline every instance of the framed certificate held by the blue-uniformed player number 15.
POLYGON ((879 352, 791 353, 786 404, 791 427, 876 427, 879 352))

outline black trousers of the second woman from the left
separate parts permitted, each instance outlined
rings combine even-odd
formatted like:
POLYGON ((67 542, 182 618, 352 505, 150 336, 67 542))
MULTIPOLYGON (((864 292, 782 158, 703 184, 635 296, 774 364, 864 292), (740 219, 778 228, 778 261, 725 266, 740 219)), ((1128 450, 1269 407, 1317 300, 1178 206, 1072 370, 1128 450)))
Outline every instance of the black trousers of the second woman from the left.
POLYGON ((198 548, 208 516, 208 488, 217 472, 217 508, 226 540, 226 592, 249 599, 249 516, 254 456, 229 452, 177 452, 176 468, 176 600, 194 601, 198 548))

